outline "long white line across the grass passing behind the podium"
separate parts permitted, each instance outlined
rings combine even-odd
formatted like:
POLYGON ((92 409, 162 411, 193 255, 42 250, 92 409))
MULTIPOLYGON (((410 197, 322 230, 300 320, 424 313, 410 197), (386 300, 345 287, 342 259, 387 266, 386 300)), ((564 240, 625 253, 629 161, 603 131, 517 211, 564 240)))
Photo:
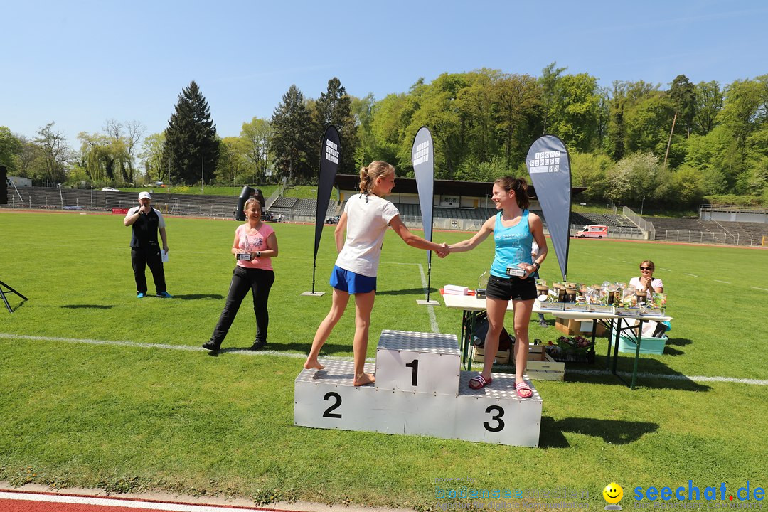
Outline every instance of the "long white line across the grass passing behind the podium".
MULTIPOLYGON (((87 345, 112 345, 131 348, 162 348, 164 350, 184 350, 187 352, 208 352, 203 347, 190 347, 189 345, 167 345, 163 343, 137 343, 137 342, 112 342, 101 339, 76 339, 76 338, 53 338, 51 336, 27 336, 20 334, 10 334, 8 332, 0 332, 0 339, 24 339, 30 341, 43 341, 43 342, 65 342, 65 343, 84 343, 87 345)), ((295 358, 303 359, 306 355, 296 354, 295 352, 280 352, 276 350, 259 350, 252 351, 248 348, 223 348, 220 352, 232 352, 240 355, 274 355, 276 357, 283 358, 295 358)), ((351 357, 339 357, 323 355, 323 359, 332 359, 335 361, 353 361, 351 357)), ((366 362, 375 362, 375 358, 366 358, 366 362)), ((481 365, 472 365, 473 368, 480 368, 481 365)), ((572 368, 568 370, 568 373, 577 373, 581 375, 611 375, 611 372, 606 370, 581 370, 578 368, 572 368)), ((631 377, 629 372, 618 372, 619 375, 624 377, 631 377)), ((760 386, 768 386, 768 380, 760 380, 757 378, 735 378, 735 377, 707 377, 706 375, 664 375, 660 373, 643 373, 638 372, 638 377, 644 378, 666 378, 674 381, 700 381, 700 382, 736 382, 738 384, 752 384, 760 386)))

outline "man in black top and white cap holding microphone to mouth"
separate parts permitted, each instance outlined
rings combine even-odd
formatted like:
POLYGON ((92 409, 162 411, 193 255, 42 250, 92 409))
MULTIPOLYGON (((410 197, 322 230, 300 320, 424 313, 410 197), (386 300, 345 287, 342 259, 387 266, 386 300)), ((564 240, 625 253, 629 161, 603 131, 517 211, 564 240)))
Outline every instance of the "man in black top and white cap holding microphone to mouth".
POLYGON ((123 223, 133 228, 131 234, 131 265, 134 267, 134 279, 136 279, 136 298, 147 296, 147 278, 144 269, 149 266, 154 279, 154 287, 157 296, 171 299, 172 296, 165 289, 165 272, 163 270, 163 256, 168 253, 168 240, 165 234, 165 220, 160 210, 155 210, 151 203, 149 192, 139 193, 139 206, 128 210, 123 223), (163 253, 157 243, 157 232, 163 240, 163 253))

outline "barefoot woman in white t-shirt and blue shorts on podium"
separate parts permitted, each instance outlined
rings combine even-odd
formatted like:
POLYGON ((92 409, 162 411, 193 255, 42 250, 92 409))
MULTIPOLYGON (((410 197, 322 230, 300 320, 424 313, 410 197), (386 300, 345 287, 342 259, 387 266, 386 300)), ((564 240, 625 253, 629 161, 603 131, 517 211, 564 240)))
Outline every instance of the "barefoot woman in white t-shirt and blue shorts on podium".
POLYGON ((347 200, 344 213, 334 231, 339 257, 330 279, 333 286, 331 310, 317 328, 310 355, 304 363, 304 368, 323 369, 323 365, 317 360, 320 348, 323 348, 333 327, 344 314, 349 296, 354 295, 353 385, 356 386, 371 384, 376 380, 375 376, 366 373, 364 368, 371 311, 376 299, 376 273, 387 226, 392 226, 392 230, 403 242, 416 249, 435 251, 441 258, 449 252, 445 243, 439 245, 416 236, 402 223, 396 206, 383 199, 394 187, 395 167, 392 165, 377 160, 360 170, 360 193, 347 200))

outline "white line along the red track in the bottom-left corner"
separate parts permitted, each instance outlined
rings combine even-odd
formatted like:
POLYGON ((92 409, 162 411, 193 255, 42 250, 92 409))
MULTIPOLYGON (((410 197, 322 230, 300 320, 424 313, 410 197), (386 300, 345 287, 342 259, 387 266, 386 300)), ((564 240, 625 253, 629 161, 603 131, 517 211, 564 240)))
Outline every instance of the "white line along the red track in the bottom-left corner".
POLYGON ((141 508, 144 510, 168 510, 169 512, 253 512, 253 510, 267 510, 254 507, 242 508, 217 505, 193 505, 171 502, 141 501, 124 497, 88 497, 55 495, 55 494, 32 494, 20 492, 0 491, 0 500, 22 500, 22 501, 40 501, 43 503, 59 504, 77 504, 91 505, 92 507, 116 507, 116 508, 141 508))

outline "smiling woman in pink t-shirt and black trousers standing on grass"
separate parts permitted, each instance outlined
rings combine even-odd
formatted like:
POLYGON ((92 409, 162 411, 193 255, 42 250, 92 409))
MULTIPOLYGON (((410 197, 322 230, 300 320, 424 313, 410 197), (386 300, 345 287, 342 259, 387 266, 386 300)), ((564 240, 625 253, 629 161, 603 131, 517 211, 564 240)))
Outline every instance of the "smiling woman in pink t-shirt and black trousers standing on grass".
POLYGON ((270 315, 266 302, 270 298, 270 289, 275 282, 272 259, 277 256, 277 236, 272 226, 261 220, 261 203, 255 197, 245 202, 243 211, 246 223, 237 226, 231 253, 237 259, 232 275, 227 302, 216 324, 214 334, 203 344, 208 350, 218 350, 227 336, 230 325, 240 309, 248 291, 253 292, 253 312, 256 313, 256 340, 251 350, 258 350, 266 345, 266 328, 270 315))

